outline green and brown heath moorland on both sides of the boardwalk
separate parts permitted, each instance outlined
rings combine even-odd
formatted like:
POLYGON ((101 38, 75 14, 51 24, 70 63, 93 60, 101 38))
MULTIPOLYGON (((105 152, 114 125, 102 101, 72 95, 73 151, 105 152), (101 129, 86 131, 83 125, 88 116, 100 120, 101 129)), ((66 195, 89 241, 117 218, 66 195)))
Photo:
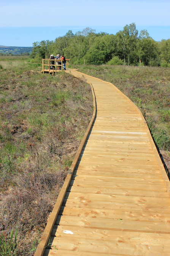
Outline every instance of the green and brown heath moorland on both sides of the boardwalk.
MULTIPOLYGON (((70 65, 71 66, 71 65, 70 65)), ((116 85, 143 113, 170 170, 170 69, 72 65, 116 85)), ((0 252, 33 255, 92 117, 91 87, 36 60, 0 60, 0 252), (16 238, 16 240, 15 240, 16 238)))

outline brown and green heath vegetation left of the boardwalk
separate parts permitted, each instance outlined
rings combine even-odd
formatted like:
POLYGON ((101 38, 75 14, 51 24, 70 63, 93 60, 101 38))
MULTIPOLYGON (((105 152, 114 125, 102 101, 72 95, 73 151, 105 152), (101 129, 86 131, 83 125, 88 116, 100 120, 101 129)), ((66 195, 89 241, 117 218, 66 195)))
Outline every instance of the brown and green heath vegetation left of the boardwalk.
POLYGON ((91 120, 91 87, 40 64, 0 64, 0 242, 16 226, 19 241, 0 254, 33 255, 91 120))

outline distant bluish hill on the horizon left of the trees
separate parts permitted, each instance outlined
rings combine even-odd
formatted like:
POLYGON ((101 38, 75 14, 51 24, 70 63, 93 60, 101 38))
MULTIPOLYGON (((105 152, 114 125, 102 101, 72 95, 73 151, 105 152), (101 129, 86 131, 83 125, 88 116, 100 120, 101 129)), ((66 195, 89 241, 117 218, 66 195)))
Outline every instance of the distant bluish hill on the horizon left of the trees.
POLYGON ((20 53, 26 53, 32 52, 33 47, 18 47, 18 46, 3 46, 0 45, 0 53, 12 53, 12 54, 20 54, 20 53))

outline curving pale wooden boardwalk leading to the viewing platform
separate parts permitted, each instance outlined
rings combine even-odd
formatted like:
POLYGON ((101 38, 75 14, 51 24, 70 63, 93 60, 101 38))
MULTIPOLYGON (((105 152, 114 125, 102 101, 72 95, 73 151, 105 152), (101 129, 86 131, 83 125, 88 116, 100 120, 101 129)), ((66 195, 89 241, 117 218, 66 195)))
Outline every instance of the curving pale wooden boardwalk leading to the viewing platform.
POLYGON ((67 72, 96 109, 35 255, 170 256, 170 182, 145 119, 114 85, 67 72))

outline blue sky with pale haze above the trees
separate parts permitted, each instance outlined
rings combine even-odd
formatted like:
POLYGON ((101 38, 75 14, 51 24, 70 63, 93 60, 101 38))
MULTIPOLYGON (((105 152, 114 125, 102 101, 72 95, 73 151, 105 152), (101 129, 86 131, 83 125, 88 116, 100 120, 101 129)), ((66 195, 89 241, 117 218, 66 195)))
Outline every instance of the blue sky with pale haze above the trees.
POLYGON ((32 46, 86 27, 116 34, 126 24, 170 38, 170 0, 0 0, 0 45, 32 46))

